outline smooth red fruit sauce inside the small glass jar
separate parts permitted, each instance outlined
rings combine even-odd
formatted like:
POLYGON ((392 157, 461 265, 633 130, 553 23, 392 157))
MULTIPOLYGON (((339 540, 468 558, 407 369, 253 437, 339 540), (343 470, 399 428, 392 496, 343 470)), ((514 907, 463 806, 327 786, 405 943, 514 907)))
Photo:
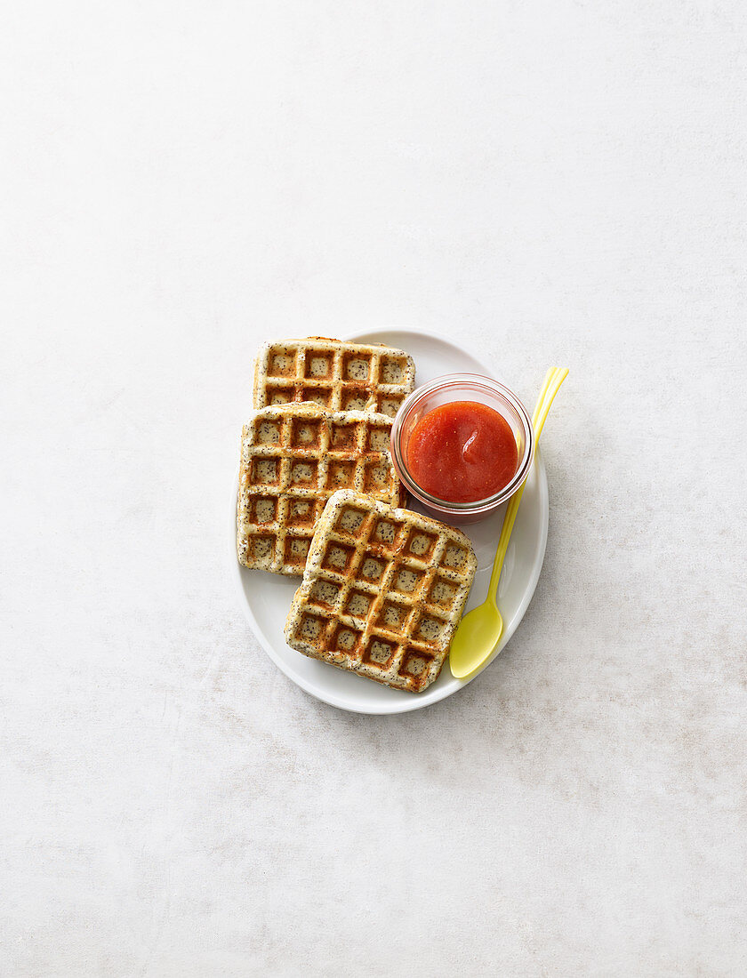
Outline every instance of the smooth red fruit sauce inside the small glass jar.
POLYGON ((513 478, 516 439, 503 415, 477 401, 452 401, 415 424, 407 465, 425 492, 449 503, 495 496, 513 478))

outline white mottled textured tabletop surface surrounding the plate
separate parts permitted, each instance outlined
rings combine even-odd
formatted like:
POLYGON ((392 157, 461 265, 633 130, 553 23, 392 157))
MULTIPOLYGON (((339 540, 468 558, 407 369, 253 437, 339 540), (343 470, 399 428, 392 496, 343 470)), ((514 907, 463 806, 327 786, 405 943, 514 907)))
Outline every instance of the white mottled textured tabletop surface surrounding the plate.
POLYGON ((743 976, 740 0, 7 4, 0 973, 743 976), (261 339, 485 349, 544 436, 504 655, 376 719, 234 593, 261 339))

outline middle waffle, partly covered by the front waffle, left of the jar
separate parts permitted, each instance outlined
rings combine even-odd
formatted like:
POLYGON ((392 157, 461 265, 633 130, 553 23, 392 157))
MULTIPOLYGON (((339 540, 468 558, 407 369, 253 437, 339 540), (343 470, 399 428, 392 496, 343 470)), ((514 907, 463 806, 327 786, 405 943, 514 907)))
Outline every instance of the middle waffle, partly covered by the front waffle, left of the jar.
POLYGON ((350 488, 397 505, 404 499, 389 455, 392 420, 315 404, 254 412, 242 430, 237 550, 244 567, 303 573, 317 519, 350 488))

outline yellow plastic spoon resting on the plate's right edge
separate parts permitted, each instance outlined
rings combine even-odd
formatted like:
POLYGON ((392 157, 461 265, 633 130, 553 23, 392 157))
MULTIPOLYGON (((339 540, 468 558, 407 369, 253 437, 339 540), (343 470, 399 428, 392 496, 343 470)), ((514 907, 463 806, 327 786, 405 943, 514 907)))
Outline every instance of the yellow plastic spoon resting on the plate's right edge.
MULTIPOLYGON (((560 384, 568 376, 568 371, 559 367, 550 367, 545 378, 540 399, 532 416, 532 426, 534 427, 535 447, 540 441, 542 429, 548 417, 549 408, 554 400, 555 394, 560 389, 560 384)), ((451 666, 452 676, 456 679, 465 679, 467 676, 479 669, 485 659, 490 655, 501 638, 504 630, 504 619, 496 604, 496 591, 498 582, 501 579, 501 571, 504 566, 505 552, 508 549, 508 541, 516 521, 516 513, 521 503, 524 493, 524 485, 518 489, 508 501, 505 510, 504 526, 501 530, 501 537, 498 541, 498 551, 493 561, 493 573, 490 575, 488 585, 488 597, 479 607, 465 614, 461 619, 459 628, 452 639, 452 646, 449 652, 449 665, 451 666)))

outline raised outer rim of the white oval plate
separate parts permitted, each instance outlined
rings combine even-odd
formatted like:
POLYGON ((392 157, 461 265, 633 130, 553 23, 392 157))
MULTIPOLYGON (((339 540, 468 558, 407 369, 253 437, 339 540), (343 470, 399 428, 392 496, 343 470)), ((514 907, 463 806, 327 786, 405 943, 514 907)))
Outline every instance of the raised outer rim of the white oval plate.
MULTIPOLYGON (((353 342, 353 341, 359 341, 361 339, 365 339, 365 337, 369 336, 371 333, 417 333, 417 335, 419 336, 426 336, 426 337, 429 336, 432 337, 433 339, 439 340, 440 342, 453 346, 455 349, 461 350, 462 352, 469 354, 475 360, 480 359, 472 352, 471 349, 469 349, 466 346, 455 343, 448 336, 444 336, 441 333, 435 333, 432 330, 425 330, 422 327, 416 327, 416 326, 412 326, 412 327, 410 326, 383 327, 382 326, 372 330, 357 330, 352 332, 345 331, 344 333, 341 334, 341 338, 353 342)), ((491 376, 495 377, 495 371, 493 369, 492 362, 488 361, 485 364, 485 367, 487 371, 491 374, 491 376)), ((494 659, 496 659, 501 654, 505 645, 507 645, 507 643, 510 641, 511 637, 513 636, 513 633, 516 631, 516 629, 523 621, 527 608, 529 607, 529 604, 531 603, 534 597, 534 593, 537 590, 537 584, 540 580, 540 574, 542 573, 542 568, 545 564, 545 553, 548 546, 548 532, 549 532, 549 486, 548 486, 548 478, 547 478, 547 471, 545 468, 545 462, 543 460, 539 445, 537 446, 537 449, 535 451, 535 458, 532 466, 533 468, 535 468, 538 476, 540 508, 544 518, 541 519, 541 527, 540 527, 541 532, 540 532, 540 544, 538 548, 538 556, 535 559, 535 563, 532 569, 532 574, 530 576, 527 587, 524 590, 524 594, 515 613, 515 622, 513 623, 513 627, 508 631, 506 630, 504 631, 504 634, 501 636, 501 641, 498 643, 498 645, 496 645, 491 655, 485 660, 485 662, 482 664, 482 666, 480 666, 479 669, 477 669, 470 676, 467 676, 462 680, 456 681, 458 683, 456 689, 447 688, 447 689, 437 690, 438 695, 432 696, 431 693, 431 696, 429 696, 425 700, 421 698, 423 694, 419 693, 417 695, 413 695, 412 697, 408 697, 408 699, 403 699, 403 702, 401 704, 399 702, 392 702, 391 704, 387 703, 383 705, 383 708, 382 708, 382 704, 379 704, 377 707, 374 708, 371 707, 367 708, 363 704, 353 705, 347 700, 341 700, 340 697, 335 695, 333 692, 327 692, 327 691, 323 692, 320 689, 314 687, 312 684, 308 683, 307 680, 305 680, 302 676, 294 674, 293 671, 288 667, 286 661, 280 656, 280 654, 275 649, 274 645, 272 645, 272 643, 266 638, 264 632, 260 628, 259 622, 255 618, 251 610, 251 605, 246 600, 246 595, 244 593, 243 585, 242 585, 242 566, 239 563, 236 556, 236 519, 237 519, 236 512, 237 512, 237 498, 239 493, 239 472, 240 472, 240 466, 237 465, 235 469, 234 486, 231 495, 231 506, 229 509, 230 512, 229 555, 231 559, 231 566, 233 568, 232 578, 234 580, 234 585, 237 589, 237 597, 241 602, 243 615, 246 618, 255 639, 257 639, 259 644, 269 655, 269 657, 272 659, 275 665, 278 666, 278 668, 286 675, 286 677, 297 687, 303 689, 304 692, 306 692, 307 694, 314 696, 315 699, 319 699, 324 703, 328 703, 330 706, 334 706, 336 709, 345 710, 349 713, 359 713, 366 716, 391 716, 400 713, 409 713, 412 712, 413 710, 423 709, 427 706, 433 706, 436 703, 439 703, 442 700, 447 699, 449 696, 453 696, 455 693, 461 692, 461 689, 464 689, 464 687, 468 686, 473 680, 477 679, 477 677, 480 676, 485 671, 485 669, 487 669, 491 665, 494 659)), ((301 653, 299 652, 299 654, 301 653)), ((443 668, 444 669, 449 668, 448 661, 444 662, 443 668)), ((456 679, 456 677, 454 678, 456 679)), ((432 690, 432 691, 436 691, 436 690, 432 690)))

